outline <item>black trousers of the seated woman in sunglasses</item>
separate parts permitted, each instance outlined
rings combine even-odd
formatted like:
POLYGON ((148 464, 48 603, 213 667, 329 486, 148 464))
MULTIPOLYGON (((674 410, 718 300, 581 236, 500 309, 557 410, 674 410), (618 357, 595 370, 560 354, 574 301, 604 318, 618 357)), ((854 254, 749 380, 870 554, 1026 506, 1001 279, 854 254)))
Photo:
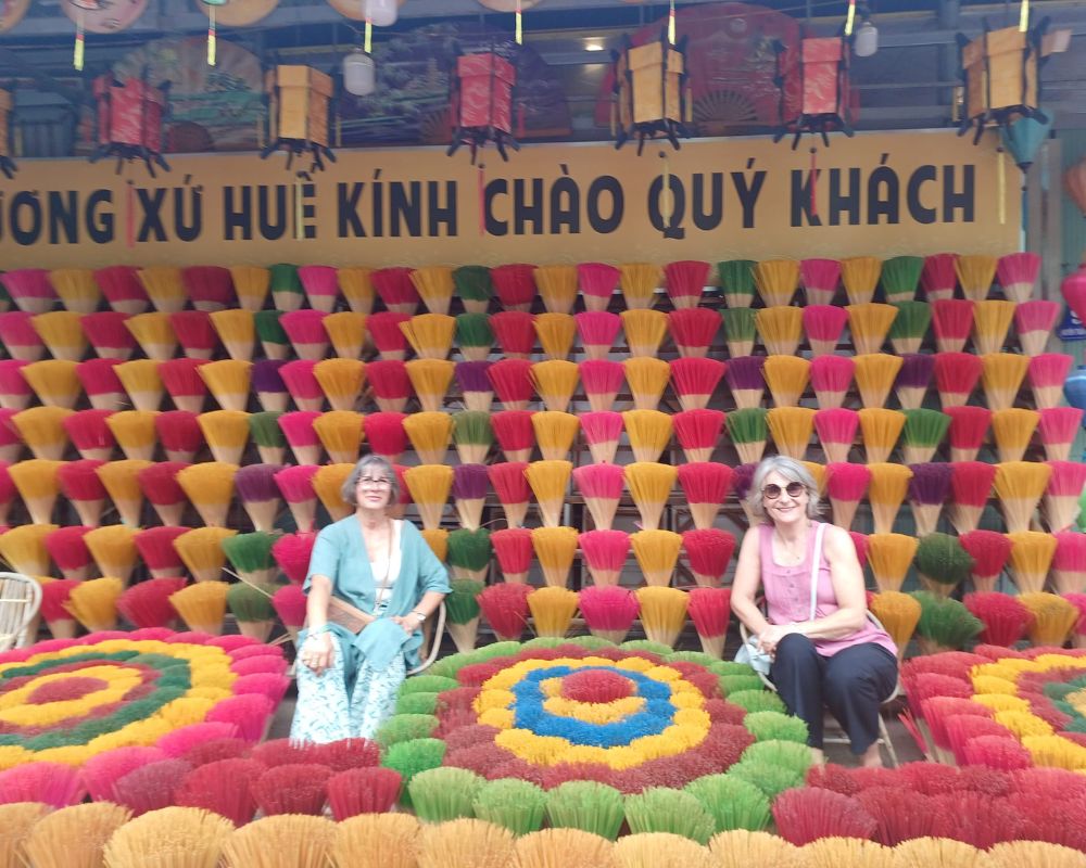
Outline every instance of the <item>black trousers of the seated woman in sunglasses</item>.
POLYGON ((769 676, 788 713, 807 724, 811 748, 822 748, 822 716, 829 709, 859 755, 879 739, 879 706, 894 692, 897 658, 873 642, 823 658, 810 639, 793 633, 776 646, 769 676))

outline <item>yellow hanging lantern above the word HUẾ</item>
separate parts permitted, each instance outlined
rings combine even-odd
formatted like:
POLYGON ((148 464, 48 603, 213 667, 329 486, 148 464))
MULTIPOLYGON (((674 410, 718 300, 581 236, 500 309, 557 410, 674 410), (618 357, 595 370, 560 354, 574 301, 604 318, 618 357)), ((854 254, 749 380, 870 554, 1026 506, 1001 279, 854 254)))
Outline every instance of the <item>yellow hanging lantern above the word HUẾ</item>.
POLYGON ((314 170, 323 170, 324 157, 336 162, 328 146, 328 102, 332 95, 330 76, 312 66, 276 66, 265 77, 270 130, 266 159, 274 151, 287 152, 287 168, 295 156, 311 154, 314 170))

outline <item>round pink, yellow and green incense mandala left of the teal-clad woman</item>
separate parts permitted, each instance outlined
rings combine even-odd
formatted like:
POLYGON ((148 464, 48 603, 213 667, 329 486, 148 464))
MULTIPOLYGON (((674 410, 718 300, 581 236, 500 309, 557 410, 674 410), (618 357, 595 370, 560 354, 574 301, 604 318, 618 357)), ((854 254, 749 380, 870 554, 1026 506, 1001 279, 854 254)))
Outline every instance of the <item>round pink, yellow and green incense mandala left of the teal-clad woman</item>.
POLYGON ((278 648, 252 639, 165 629, 91 634, 0 654, 0 770, 30 762, 81 765, 205 720, 258 733, 275 710, 268 676, 282 679, 285 668, 278 648), (262 677, 247 677, 254 674, 262 677))

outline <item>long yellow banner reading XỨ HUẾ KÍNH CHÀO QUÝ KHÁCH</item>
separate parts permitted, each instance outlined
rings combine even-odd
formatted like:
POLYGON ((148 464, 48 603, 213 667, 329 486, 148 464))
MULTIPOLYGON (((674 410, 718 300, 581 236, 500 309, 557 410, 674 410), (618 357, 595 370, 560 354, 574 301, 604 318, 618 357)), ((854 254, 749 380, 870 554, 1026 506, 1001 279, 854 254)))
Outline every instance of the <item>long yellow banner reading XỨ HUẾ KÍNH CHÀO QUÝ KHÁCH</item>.
POLYGON ((0 181, 0 268, 1001 254, 1019 246, 1020 175, 994 138, 548 144, 480 167, 440 149, 341 151, 301 178, 282 155, 176 156, 157 179, 24 159, 0 181))

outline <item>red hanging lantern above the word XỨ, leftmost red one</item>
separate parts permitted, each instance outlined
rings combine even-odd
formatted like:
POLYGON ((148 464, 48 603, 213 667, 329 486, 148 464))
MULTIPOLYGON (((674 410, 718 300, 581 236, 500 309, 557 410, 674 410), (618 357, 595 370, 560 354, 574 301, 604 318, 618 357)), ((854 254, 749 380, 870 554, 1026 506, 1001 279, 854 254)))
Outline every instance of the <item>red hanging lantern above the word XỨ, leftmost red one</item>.
POLYGON ((94 79, 98 102, 98 148, 90 162, 117 158, 117 173, 126 161, 142 161, 152 178, 157 164, 166 171, 162 156, 162 115, 168 85, 151 87, 140 78, 117 80, 110 75, 94 79))

